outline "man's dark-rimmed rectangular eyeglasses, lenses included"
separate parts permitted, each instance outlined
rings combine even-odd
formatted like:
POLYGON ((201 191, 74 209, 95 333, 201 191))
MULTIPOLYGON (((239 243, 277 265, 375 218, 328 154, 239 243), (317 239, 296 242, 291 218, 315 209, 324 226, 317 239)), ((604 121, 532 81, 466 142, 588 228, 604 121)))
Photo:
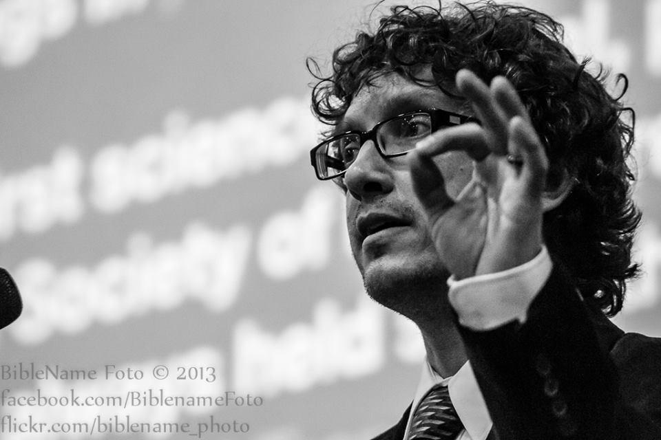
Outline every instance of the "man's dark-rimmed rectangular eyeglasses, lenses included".
POLYGON ((374 142, 382 157, 397 157, 414 149, 419 140, 434 131, 470 120, 474 118, 439 109, 410 111, 381 121, 370 131, 352 130, 330 137, 312 148, 310 160, 317 179, 334 179, 353 164, 368 140, 374 142))

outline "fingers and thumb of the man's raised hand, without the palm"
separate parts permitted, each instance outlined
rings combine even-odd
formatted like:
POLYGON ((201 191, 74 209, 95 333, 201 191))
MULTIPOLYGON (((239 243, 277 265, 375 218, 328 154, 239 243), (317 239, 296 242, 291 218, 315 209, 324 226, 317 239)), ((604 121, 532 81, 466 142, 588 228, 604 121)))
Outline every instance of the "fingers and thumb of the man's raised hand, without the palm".
MULTIPOLYGON (((455 201, 445 192, 434 158, 464 151, 476 161, 476 179, 494 194, 505 181, 517 182, 520 194, 539 197, 544 189, 548 159, 516 89, 503 77, 487 87, 475 74, 462 70, 457 86, 473 105, 481 125, 468 123, 436 131, 409 153, 412 181, 428 210, 446 210, 455 201), (490 154, 493 160, 485 160, 490 154)), ((463 199, 460 197, 458 199, 463 199)))

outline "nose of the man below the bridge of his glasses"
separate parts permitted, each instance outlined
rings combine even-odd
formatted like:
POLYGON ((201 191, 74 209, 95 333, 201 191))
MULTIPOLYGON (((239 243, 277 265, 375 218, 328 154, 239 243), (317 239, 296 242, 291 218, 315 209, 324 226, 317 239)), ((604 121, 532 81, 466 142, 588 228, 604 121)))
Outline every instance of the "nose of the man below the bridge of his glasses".
POLYGON ((392 191, 392 169, 372 140, 366 141, 344 173, 344 184, 357 200, 379 197, 392 191))

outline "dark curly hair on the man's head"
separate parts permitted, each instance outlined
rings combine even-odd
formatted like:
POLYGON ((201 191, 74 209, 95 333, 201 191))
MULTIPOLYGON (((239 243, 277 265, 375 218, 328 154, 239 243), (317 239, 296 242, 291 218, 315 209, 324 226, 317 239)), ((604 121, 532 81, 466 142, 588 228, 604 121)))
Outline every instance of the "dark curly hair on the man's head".
POLYGON ((470 69, 489 83, 510 80, 545 143, 550 170, 547 187, 569 176, 574 188, 557 208, 545 213, 545 243, 567 267, 586 300, 607 315, 622 309, 626 281, 638 275, 631 246, 640 211, 631 199, 635 179, 627 164, 633 144, 633 110, 622 93, 606 90, 608 73, 593 76, 563 45, 563 26, 535 10, 493 1, 448 7, 394 6, 375 32, 333 52, 332 72, 320 73, 308 59, 318 83, 312 109, 326 124, 336 124, 357 91, 395 72, 429 86, 417 74, 431 67, 435 85, 453 94, 454 76, 470 69), (631 124, 623 118, 631 114, 631 124))

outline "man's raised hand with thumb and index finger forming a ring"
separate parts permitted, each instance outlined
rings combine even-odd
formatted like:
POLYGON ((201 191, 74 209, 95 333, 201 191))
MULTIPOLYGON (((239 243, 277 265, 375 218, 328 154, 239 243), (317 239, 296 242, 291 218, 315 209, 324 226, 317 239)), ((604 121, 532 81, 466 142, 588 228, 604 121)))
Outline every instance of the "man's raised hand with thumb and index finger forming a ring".
POLYGON ((509 81, 496 77, 487 86, 468 70, 456 81, 480 124, 432 133, 408 161, 441 261, 461 279, 507 270, 539 252, 548 160, 509 81), (474 159, 472 180, 457 199, 445 192, 435 162, 448 151, 474 159))

